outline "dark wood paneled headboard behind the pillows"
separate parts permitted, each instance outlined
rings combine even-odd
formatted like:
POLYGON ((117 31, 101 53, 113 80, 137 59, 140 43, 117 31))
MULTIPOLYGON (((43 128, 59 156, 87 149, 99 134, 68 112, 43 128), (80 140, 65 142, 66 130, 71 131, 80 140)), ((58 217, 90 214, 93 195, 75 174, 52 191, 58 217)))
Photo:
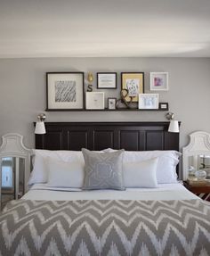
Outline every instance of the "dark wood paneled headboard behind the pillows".
POLYGON ((169 122, 45 122, 46 134, 36 135, 36 149, 179 151, 179 134, 167 132, 168 125, 169 122))

